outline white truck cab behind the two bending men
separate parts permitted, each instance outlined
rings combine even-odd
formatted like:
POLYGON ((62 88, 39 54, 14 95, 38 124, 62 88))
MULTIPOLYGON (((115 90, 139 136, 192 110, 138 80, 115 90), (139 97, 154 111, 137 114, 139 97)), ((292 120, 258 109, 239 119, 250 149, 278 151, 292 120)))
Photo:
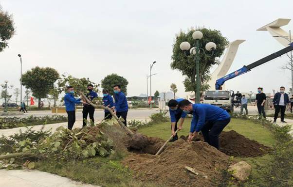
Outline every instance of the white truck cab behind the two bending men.
POLYGON ((203 103, 215 105, 227 112, 233 112, 233 91, 228 90, 209 90, 204 93, 203 103))

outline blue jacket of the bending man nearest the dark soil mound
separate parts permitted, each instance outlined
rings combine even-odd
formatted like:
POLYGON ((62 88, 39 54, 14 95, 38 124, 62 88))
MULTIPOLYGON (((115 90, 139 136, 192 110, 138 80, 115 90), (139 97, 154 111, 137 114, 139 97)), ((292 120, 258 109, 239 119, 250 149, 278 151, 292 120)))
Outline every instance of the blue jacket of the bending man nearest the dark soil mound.
POLYGON ((215 122, 229 119, 230 115, 224 109, 210 104, 193 104, 193 119, 191 121, 190 132, 199 132, 206 122, 215 122))

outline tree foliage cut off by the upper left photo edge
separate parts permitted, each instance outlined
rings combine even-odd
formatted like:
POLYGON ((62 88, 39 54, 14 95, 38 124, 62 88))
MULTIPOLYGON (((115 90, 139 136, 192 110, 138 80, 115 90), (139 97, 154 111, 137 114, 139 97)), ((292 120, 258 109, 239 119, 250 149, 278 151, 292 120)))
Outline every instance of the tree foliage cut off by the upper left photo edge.
POLYGON ((0 7, 0 52, 8 47, 8 40, 15 33, 12 15, 2 11, 0 7))

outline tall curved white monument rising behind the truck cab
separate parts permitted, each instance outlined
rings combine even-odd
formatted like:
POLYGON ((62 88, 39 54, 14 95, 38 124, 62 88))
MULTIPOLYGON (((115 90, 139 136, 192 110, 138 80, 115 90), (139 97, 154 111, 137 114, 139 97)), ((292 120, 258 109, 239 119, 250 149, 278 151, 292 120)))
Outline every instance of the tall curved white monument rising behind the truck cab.
MULTIPOLYGON (((215 90, 216 80, 219 78, 224 77, 227 75, 234 59, 236 56, 236 53, 238 51, 238 47, 241 43, 243 43, 245 40, 235 40, 231 42, 226 48, 227 51, 224 54, 224 57, 220 63, 220 65, 217 67, 217 69, 211 74, 211 79, 209 80, 208 84, 210 86, 210 90, 215 90)), ((225 85, 222 86, 222 90, 225 90, 225 85)), ((194 98, 194 93, 186 92, 187 99, 194 98)))

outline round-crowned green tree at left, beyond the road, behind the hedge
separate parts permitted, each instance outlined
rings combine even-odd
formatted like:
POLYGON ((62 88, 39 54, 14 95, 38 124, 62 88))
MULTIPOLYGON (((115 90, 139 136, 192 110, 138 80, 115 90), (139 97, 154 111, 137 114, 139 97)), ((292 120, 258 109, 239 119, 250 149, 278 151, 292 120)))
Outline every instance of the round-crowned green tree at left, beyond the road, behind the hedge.
POLYGON ((38 108, 41 108, 41 98, 46 98, 54 88, 59 73, 51 67, 35 67, 22 75, 22 85, 33 92, 38 99, 38 108))

